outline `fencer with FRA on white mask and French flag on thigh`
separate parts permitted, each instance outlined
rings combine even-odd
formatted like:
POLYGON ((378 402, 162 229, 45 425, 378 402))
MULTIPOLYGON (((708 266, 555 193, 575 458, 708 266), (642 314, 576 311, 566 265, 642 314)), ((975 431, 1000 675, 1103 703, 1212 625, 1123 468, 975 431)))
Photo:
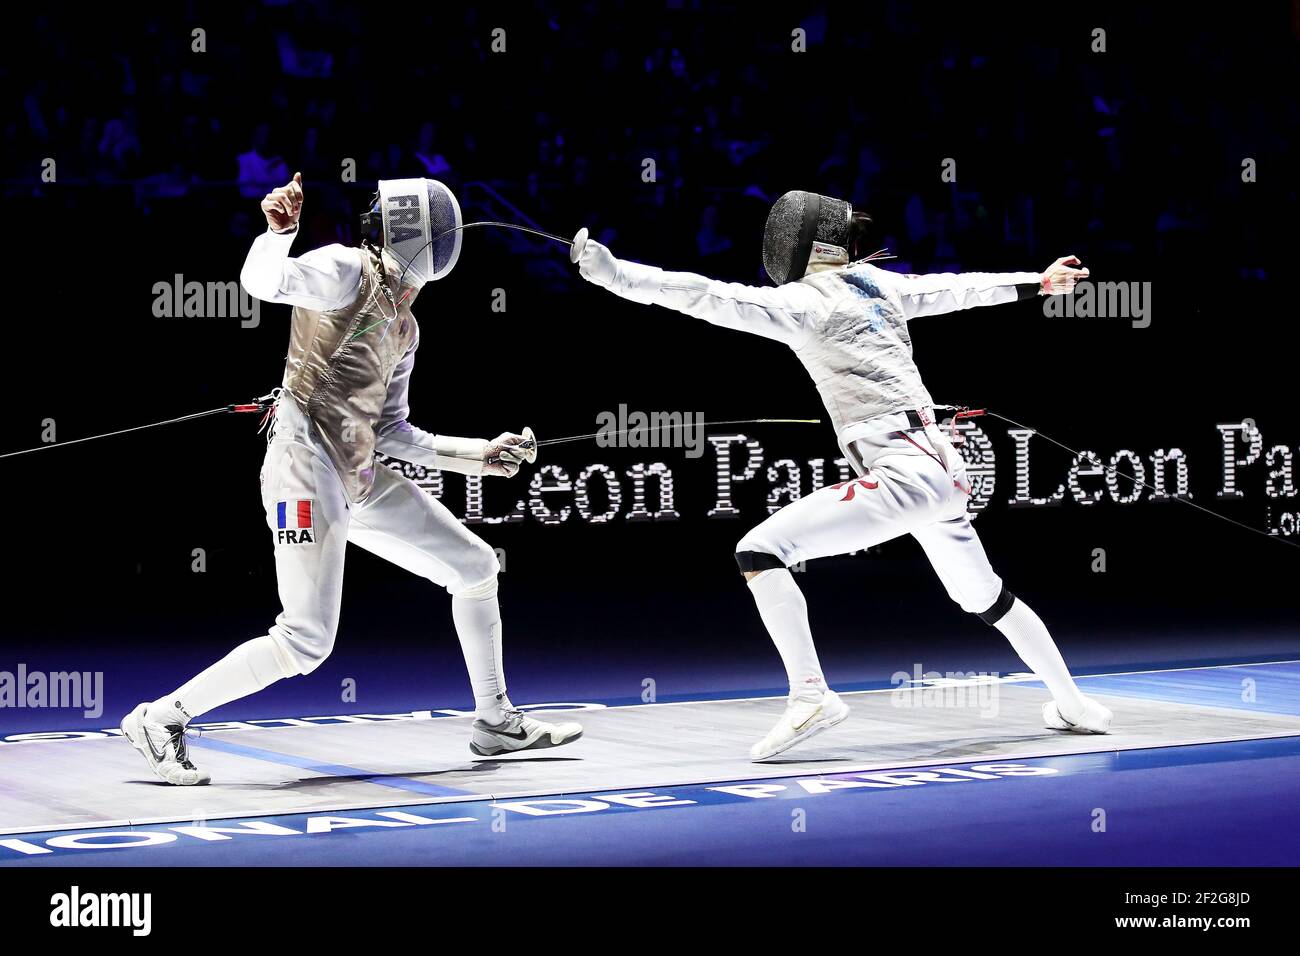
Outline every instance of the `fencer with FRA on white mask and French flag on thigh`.
POLYGON ((490 756, 576 740, 578 724, 537 721, 506 693, 495 551, 413 481, 374 464, 380 451, 442 471, 511 477, 536 460, 529 429, 486 441, 432 434, 407 420, 420 345, 411 307, 460 255, 455 195, 434 179, 382 181, 361 217, 359 247, 330 245, 300 258, 289 248, 303 211, 302 176, 272 190, 261 209, 268 230, 254 241, 240 282, 264 302, 292 306, 261 468, 283 611, 266 635, 140 704, 122 732, 168 783, 207 783, 188 757, 186 724, 320 666, 334 644, 352 542, 451 594, 474 696, 471 750, 490 756))

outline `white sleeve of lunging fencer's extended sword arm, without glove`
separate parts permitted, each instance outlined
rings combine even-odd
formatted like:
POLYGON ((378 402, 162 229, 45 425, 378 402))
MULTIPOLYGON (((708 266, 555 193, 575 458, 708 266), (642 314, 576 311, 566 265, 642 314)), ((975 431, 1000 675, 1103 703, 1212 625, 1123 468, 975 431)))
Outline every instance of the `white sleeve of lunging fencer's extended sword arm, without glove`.
POLYGON ((719 282, 693 272, 664 272, 618 260, 618 276, 606 286, 632 302, 664 306, 712 325, 751 332, 797 349, 826 315, 815 289, 788 282, 774 289, 719 282))

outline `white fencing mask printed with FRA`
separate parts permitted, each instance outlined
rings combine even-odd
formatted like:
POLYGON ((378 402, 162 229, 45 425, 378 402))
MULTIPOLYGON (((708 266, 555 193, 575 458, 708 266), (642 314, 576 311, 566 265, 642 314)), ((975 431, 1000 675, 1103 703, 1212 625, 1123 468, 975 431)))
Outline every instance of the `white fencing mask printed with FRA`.
POLYGON ((380 179, 361 213, 361 235, 382 243, 403 269, 402 281, 416 287, 451 272, 460 258, 460 203, 437 179, 380 179))

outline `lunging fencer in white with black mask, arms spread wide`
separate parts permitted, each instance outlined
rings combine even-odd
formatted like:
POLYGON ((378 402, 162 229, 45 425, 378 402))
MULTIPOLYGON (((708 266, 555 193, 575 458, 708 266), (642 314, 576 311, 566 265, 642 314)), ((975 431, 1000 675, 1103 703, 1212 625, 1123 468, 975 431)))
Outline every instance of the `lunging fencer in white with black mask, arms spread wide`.
POLYGON ((783 195, 763 235, 763 265, 776 287, 616 259, 586 230, 575 239, 581 274, 598 286, 789 346, 812 376, 858 475, 786 505, 736 548, 790 685, 784 714, 750 756, 767 760, 849 713, 826 684, 807 605, 788 568, 901 535, 920 544, 948 594, 1001 631, 1046 684, 1049 728, 1104 734, 1110 711, 1079 692, 1046 627, 989 566, 966 511, 965 463, 936 427, 907 333, 913 319, 1067 293, 1088 271, 1066 256, 1043 273, 904 276, 853 260, 868 222, 841 199, 783 195))

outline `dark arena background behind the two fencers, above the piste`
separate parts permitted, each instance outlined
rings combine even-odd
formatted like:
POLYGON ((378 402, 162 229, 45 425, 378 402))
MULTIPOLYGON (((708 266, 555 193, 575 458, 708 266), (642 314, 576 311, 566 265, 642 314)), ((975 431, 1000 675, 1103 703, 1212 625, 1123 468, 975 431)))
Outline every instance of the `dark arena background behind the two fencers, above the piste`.
MULTIPOLYGON (((872 212, 878 245, 898 255, 892 268, 1043 269, 1075 254, 1097 280, 1152 282, 1149 328, 1046 319, 1026 302, 916 321, 918 362, 937 401, 992 407, 1074 447, 1145 458, 1179 446, 1197 503, 1264 528, 1297 502, 1273 502, 1270 515, 1262 463, 1242 471, 1243 499, 1218 501, 1214 425, 1252 418, 1265 449, 1300 442, 1288 407, 1300 14, 1131 7, 6 14, 0 447, 39 444, 47 418, 68 441, 278 384, 287 307, 264 307, 255 329, 157 319, 153 285, 176 273, 235 280, 263 228, 261 194, 294 170, 307 196, 299 254, 355 243, 376 179, 430 176, 458 193, 467 220, 566 235, 586 225, 616 255, 754 284, 771 200, 810 189, 872 212), (796 26, 805 53, 790 51, 796 26), (490 51, 494 27, 504 53, 490 51), (1091 49, 1096 27, 1106 52, 1091 49), (191 51, 194 29, 205 52, 191 51), (46 157, 55 183, 40 179, 46 157), (940 179, 945 157, 956 183, 940 179), (1242 181, 1245 157, 1257 182, 1242 181), (355 183, 341 182, 346 159, 355 183), (645 159, 655 182, 642 181, 645 159)), ((582 282, 558 245, 516 233, 468 232, 456 269, 415 312, 412 420, 430 431, 582 433, 620 403, 824 418, 784 347, 619 300, 582 282), (504 313, 491 310, 498 289, 504 313)), ((277 604, 255 424, 212 418, 0 459, 0 669, 104 669, 129 704, 263 633, 277 604), (205 574, 190 570, 194 548, 207 551, 205 574)), ((1300 649, 1294 549, 1145 494, 1008 509, 1011 442, 1005 425, 985 428, 998 485, 976 527, 1072 663, 1300 649), (1091 570, 1096 548, 1105 574, 1091 570)), ((749 433, 767 463, 838 455, 826 424, 749 433)), ((764 480, 738 486, 740 519, 708 520, 710 457, 576 444, 543 460, 571 473, 666 460, 682 520, 480 528, 506 549, 517 700, 636 696, 645 676, 660 695, 780 684, 731 557, 766 516, 764 480)), ((1036 442, 1034 460, 1036 494, 1065 480, 1066 453, 1036 442)), ((526 480, 489 480, 489 512, 526 480)), ((459 489, 448 477, 458 512, 459 489)), ((363 705, 378 687, 385 705, 465 704, 446 596, 360 551, 348 562, 339 652, 299 692, 338 711, 338 682, 355 676, 363 705)), ((832 683, 914 662, 1017 666, 996 632, 946 600, 910 540, 815 562, 800 581, 832 683)), ((294 706, 270 696, 247 710, 294 706)))

